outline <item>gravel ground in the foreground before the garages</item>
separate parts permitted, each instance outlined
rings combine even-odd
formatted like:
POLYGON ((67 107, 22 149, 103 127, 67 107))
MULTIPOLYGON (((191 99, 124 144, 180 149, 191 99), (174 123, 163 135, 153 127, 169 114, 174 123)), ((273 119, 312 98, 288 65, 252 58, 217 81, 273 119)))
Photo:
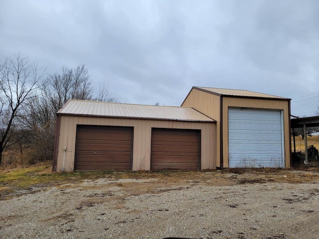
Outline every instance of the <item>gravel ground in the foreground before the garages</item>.
POLYGON ((203 173, 34 187, 0 201, 0 238, 317 239, 318 183, 203 173))

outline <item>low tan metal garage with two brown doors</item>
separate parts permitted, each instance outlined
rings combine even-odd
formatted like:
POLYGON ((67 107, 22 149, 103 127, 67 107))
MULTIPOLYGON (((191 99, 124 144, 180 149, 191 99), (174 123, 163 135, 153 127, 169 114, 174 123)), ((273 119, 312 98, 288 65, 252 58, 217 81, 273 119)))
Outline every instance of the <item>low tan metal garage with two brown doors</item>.
POLYGON ((184 107, 70 100, 57 113, 53 171, 216 168, 216 121, 184 107))

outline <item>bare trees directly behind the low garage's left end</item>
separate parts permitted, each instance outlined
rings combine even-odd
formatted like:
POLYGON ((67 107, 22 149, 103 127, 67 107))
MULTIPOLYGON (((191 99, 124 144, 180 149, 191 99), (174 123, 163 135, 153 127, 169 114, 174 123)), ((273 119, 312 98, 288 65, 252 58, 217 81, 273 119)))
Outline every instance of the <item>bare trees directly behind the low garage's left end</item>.
POLYGON ((36 98, 28 101, 29 113, 25 127, 29 130, 31 146, 28 162, 50 160, 53 156, 56 112, 70 99, 116 102, 108 85, 102 85, 95 95, 88 70, 84 65, 70 69, 62 67, 60 73, 49 75, 36 98))

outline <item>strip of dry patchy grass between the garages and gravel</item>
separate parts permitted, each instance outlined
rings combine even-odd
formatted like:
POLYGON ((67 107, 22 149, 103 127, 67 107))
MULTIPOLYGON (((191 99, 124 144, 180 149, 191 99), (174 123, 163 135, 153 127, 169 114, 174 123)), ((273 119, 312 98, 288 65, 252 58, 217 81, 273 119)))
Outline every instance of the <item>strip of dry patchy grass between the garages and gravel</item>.
MULTIPOLYGON (((235 185, 266 182, 301 183, 319 180, 319 167, 295 169, 225 168, 205 171, 137 171, 137 172, 51 172, 51 163, 32 167, 0 170, 0 200, 32 193, 49 186, 78 186, 84 179, 157 179, 143 184, 116 182, 116 186, 132 194, 156 193, 162 187, 189 185, 235 185)), ((85 186, 83 186, 85 187, 85 186)), ((82 187, 82 189, 84 189, 82 187)), ((98 187, 98 186, 97 186, 98 187)), ((174 190, 178 190, 176 188, 174 190)))

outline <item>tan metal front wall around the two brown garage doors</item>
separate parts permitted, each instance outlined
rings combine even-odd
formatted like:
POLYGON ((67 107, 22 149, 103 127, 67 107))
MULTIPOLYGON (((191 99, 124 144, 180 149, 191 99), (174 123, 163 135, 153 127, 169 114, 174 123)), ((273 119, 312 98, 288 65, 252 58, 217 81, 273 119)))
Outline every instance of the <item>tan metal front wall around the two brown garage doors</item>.
POLYGON ((214 122, 61 116, 57 148, 57 172, 61 171, 63 166, 64 147, 67 148, 64 170, 73 171, 74 169, 77 124, 133 126, 133 170, 150 170, 152 127, 201 129, 201 169, 216 168, 216 123, 214 122))

